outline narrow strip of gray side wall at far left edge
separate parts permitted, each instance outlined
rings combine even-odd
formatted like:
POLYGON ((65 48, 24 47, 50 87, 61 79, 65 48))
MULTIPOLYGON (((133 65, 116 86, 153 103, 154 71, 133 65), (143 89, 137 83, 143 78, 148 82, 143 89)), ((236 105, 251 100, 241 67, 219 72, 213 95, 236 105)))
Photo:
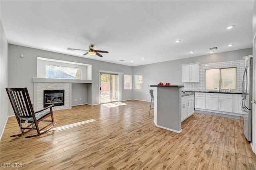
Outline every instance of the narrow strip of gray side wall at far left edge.
POLYGON ((5 88, 8 87, 8 41, 0 20, 0 138, 8 119, 9 99, 5 88))

